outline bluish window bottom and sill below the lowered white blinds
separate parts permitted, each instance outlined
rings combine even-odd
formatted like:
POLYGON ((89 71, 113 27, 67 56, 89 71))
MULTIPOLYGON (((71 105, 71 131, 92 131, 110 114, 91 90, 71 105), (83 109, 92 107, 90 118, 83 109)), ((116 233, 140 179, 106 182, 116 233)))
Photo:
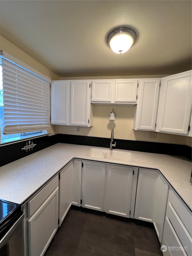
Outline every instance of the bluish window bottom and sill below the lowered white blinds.
POLYGON ((24 136, 13 137, 13 138, 9 138, 9 139, 3 139, 0 142, 0 147, 8 145, 8 144, 13 144, 13 143, 21 142, 21 141, 26 141, 26 140, 29 140, 29 139, 44 137, 44 136, 47 136, 49 134, 50 134, 49 132, 44 132, 44 133, 41 132, 41 133, 36 133, 36 134, 28 134, 28 135, 24 135, 24 136))

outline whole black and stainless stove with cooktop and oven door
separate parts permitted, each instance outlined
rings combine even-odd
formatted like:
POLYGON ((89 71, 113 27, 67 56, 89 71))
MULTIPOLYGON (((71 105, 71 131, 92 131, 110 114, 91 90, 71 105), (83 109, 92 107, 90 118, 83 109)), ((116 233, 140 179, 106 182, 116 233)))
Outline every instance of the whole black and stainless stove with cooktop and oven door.
POLYGON ((23 237, 21 206, 0 199, 0 255, 22 256, 23 237))

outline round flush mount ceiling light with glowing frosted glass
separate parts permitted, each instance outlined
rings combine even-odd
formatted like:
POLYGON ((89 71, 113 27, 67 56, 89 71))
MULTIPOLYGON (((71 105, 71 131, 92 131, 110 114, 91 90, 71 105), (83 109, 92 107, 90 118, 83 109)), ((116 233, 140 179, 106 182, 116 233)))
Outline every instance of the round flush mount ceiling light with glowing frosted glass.
POLYGON ((129 28, 118 28, 113 30, 107 37, 107 44, 115 53, 125 53, 136 41, 136 33, 129 28))

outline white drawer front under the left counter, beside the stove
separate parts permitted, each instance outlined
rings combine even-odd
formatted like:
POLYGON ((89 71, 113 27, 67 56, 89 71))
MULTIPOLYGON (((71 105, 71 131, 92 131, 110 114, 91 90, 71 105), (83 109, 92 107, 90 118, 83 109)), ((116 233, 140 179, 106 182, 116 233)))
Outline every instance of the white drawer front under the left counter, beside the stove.
POLYGON ((59 185, 58 175, 38 192, 28 203, 28 218, 42 205, 59 185))

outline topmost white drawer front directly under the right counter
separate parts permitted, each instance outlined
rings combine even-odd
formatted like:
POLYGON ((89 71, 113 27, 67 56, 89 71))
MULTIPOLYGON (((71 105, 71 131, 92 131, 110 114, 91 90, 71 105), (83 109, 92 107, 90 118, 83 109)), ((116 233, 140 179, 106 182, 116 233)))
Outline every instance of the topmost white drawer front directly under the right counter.
POLYGON ((182 202, 179 196, 170 188, 168 202, 171 203, 174 210, 176 211, 177 215, 183 222, 184 226, 186 227, 187 231, 192 236, 192 218, 191 218, 191 211, 187 208, 187 206, 182 202))

